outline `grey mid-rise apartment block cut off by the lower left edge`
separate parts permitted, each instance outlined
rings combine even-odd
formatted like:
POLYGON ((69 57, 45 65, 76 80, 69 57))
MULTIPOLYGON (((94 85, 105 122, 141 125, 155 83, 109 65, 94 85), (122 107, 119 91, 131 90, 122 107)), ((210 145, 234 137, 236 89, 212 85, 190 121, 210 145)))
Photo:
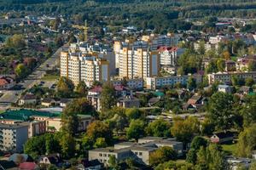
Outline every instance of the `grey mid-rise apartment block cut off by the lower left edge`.
POLYGON ((28 125, 0 124, 0 150, 20 152, 28 139, 28 125))

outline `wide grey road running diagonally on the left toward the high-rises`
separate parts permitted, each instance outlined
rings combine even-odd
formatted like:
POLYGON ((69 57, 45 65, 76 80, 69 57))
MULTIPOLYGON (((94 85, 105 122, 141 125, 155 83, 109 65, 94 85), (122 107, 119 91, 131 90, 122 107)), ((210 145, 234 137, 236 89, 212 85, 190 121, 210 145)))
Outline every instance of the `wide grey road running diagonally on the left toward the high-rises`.
POLYGON ((35 84, 41 82, 41 78, 44 77, 47 70, 53 69, 59 62, 59 56, 61 54, 61 48, 57 49, 49 59, 32 72, 23 82, 19 82, 17 85, 22 87, 22 90, 8 90, 3 91, 3 96, 0 98, 0 110, 5 110, 11 106, 11 103, 15 103, 20 94, 28 88, 32 88, 35 84))

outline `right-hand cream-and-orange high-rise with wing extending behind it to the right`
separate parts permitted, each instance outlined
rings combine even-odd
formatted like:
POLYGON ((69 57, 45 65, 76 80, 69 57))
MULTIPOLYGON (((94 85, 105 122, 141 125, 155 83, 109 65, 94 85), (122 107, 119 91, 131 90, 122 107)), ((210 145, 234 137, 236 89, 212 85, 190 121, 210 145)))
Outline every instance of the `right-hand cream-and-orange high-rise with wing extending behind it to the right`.
POLYGON ((114 42, 116 68, 119 68, 119 77, 144 78, 154 77, 160 71, 160 55, 158 48, 161 46, 177 46, 177 35, 150 35, 143 36, 140 40, 125 40, 114 42))

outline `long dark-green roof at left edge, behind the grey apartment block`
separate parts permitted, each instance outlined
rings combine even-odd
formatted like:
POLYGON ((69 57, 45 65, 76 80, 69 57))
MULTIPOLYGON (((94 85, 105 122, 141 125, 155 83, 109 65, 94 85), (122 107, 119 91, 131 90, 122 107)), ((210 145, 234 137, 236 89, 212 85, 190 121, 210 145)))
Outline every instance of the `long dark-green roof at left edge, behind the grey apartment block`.
POLYGON ((32 116, 45 116, 45 117, 56 117, 61 116, 61 113, 51 113, 48 111, 35 111, 35 110, 16 110, 16 111, 5 111, 0 115, 1 119, 26 121, 32 116))

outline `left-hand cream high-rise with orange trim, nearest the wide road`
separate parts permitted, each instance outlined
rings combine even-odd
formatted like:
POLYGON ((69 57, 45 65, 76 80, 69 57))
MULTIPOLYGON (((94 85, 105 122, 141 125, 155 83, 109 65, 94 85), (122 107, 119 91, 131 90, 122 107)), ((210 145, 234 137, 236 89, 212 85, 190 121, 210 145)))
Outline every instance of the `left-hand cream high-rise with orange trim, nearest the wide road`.
POLYGON ((96 55, 61 52, 61 77, 67 77, 75 85, 84 81, 87 86, 95 81, 109 80, 109 62, 96 55))

